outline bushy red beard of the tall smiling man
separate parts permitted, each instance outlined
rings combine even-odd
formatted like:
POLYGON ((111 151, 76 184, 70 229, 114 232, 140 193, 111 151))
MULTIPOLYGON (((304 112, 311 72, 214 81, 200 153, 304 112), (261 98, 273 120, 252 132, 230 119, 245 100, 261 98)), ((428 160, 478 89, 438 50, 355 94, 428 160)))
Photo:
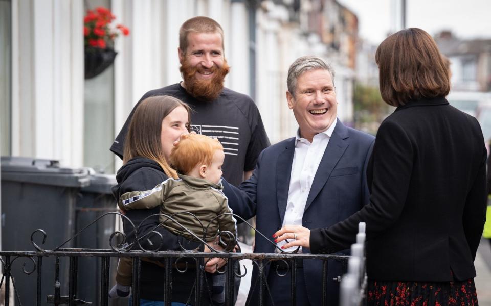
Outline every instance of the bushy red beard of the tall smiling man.
POLYGON ((199 100, 212 101, 216 99, 220 95, 222 89, 224 89, 225 76, 229 73, 230 67, 225 59, 221 68, 213 65, 213 67, 209 69, 213 72, 213 78, 208 80, 198 80, 195 77, 198 68, 191 67, 186 58, 179 70, 181 70, 184 84, 186 85, 186 91, 190 95, 199 100))

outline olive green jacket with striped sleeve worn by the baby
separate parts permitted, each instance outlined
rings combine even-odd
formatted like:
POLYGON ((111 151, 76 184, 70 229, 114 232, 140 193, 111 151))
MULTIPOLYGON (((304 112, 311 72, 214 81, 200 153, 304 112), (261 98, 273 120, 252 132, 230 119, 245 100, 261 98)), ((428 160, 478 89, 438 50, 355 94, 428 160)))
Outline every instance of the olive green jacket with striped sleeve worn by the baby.
MULTIPOLYGON (((179 179, 167 179, 152 190, 124 193, 118 205, 125 211, 160 206, 160 213, 165 215, 159 217, 161 226, 191 240, 196 240, 196 235, 213 241, 218 231, 229 231, 236 241, 236 220, 221 189, 221 183, 180 174, 179 179)), ((230 235, 221 238, 227 244, 231 239, 230 235)))

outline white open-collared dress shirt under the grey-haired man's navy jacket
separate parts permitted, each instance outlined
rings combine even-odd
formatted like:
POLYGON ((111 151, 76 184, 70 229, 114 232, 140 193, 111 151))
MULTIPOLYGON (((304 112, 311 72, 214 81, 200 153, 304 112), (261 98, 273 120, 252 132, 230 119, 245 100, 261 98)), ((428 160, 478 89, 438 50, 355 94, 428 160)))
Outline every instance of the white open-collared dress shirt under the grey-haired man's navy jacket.
MULTIPOLYGON (((307 203, 308 193, 314 181, 314 177, 324 156, 332 131, 338 119, 334 119, 329 129, 314 136, 312 143, 300 137, 300 130, 295 137, 295 153, 293 155, 292 173, 290 175, 290 186, 288 189, 288 200, 286 203, 285 216, 282 227, 288 225, 302 225, 303 212, 307 203)), ((281 212, 280 212, 281 213, 281 212)), ((277 243, 278 247, 285 241, 277 243)), ((284 249, 294 251, 297 247, 284 249)), ((301 252, 301 249, 300 251, 301 252)))

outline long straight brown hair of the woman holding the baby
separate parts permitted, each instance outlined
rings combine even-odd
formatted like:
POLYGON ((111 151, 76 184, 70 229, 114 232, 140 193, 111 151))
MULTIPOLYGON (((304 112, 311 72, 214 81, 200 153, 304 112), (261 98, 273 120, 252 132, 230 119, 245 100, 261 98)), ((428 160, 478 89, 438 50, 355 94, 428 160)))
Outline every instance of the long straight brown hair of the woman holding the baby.
POLYGON ((161 132, 162 120, 179 106, 187 110, 188 120, 191 123, 190 109, 180 99, 165 95, 153 96, 140 103, 131 118, 124 140, 124 164, 137 156, 146 157, 159 163, 167 176, 177 179, 177 173, 165 159, 161 132))

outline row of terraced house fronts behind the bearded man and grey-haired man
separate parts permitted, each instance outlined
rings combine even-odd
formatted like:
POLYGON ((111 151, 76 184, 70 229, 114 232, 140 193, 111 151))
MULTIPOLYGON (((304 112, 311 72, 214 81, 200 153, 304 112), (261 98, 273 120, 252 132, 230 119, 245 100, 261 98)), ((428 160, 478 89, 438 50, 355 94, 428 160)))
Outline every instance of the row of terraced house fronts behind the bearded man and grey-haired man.
POLYGON ((209 16, 225 32, 226 86, 256 101, 271 141, 297 129, 288 66, 324 57, 336 70, 339 118, 352 122, 358 19, 334 0, 0 0, 1 154, 114 173, 116 133, 148 90, 181 81, 178 29, 209 16), (113 66, 84 80, 83 17, 104 6, 131 33, 113 66))

